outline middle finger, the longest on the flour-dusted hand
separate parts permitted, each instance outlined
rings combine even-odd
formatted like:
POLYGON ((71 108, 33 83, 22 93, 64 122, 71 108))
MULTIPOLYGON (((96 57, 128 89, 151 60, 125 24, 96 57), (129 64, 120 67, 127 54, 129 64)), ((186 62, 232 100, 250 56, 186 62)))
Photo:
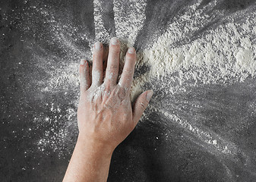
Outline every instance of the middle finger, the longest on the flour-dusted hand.
POLYGON ((106 66, 106 84, 116 85, 117 77, 119 76, 119 54, 120 42, 119 39, 113 37, 109 44, 109 57, 106 66))

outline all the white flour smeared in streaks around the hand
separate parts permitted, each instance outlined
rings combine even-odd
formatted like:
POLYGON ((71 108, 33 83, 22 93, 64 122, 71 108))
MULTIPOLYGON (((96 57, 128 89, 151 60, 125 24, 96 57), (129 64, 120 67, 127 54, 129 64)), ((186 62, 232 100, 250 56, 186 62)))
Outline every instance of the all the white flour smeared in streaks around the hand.
MULTIPOLYGON (((145 45, 144 49, 135 47, 139 49, 136 64, 138 74, 134 78, 131 99, 141 93, 147 84, 158 91, 159 95, 155 97, 161 98, 162 94, 171 96, 175 93, 186 93, 188 88, 193 86, 230 85, 244 82, 248 77, 255 78, 255 6, 221 17, 225 14, 225 10, 216 10, 216 1, 209 2, 203 8, 199 8, 200 5, 201 1, 194 2, 193 5, 186 7, 184 13, 175 15, 169 21, 166 30, 160 35, 153 35, 148 41, 151 41, 150 44, 145 45), (216 19, 218 16, 221 18, 216 19), (147 71, 141 71, 143 67, 148 67, 147 71), (157 86, 152 81, 156 81, 157 86)), ((72 17, 62 20, 51 8, 34 8, 35 13, 43 14, 45 17, 51 41, 58 46, 58 49, 65 52, 65 56, 54 52, 52 55, 45 56, 39 53, 43 48, 31 48, 34 59, 39 61, 37 66, 48 76, 46 80, 37 82, 41 92, 51 95, 60 91, 78 93, 77 66, 79 60, 92 57, 93 42, 98 40, 109 42, 112 37, 104 26, 103 2, 94 0, 93 8, 95 37, 79 31, 81 27, 72 24, 72 17), (79 41, 89 42, 90 50, 79 45, 77 43, 79 41), (55 64, 56 59, 63 61, 61 66, 55 64), (47 63, 47 66, 42 62, 47 63)), ((146 0, 113 1, 115 24, 112 26, 115 27, 115 36, 122 42, 122 61, 125 50, 128 46, 134 45, 137 36, 143 30, 147 18, 146 8, 146 0)), ((52 104, 49 103, 49 105, 52 104)), ((54 103, 54 105, 53 107, 58 108, 61 103, 54 103)), ((70 105, 77 105, 77 97, 70 101, 70 105)), ((73 137, 73 133, 67 133, 70 130, 66 128, 76 128, 76 111, 74 108, 65 109, 65 118, 71 115, 71 121, 68 124, 62 124, 62 128, 54 132, 46 131, 47 134, 37 143, 41 152, 49 147, 54 151, 62 151, 65 148, 63 143, 73 137)), ((194 137, 195 143, 213 155, 233 158, 242 153, 244 158, 248 158, 248 154, 242 152, 238 146, 235 146, 235 143, 214 133, 213 130, 190 123, 179 116, 179 111, 171 112, 157 105, 150 105, 149 109, 166 118, 167 127, 169 123, 172 123, 185 129, 194 137)), ((52 112, 54 112, 52 115, 58 115, 58 111, 52 110, 52 112)), ((47 118, 45 113, 42 115, 47 118)), ((146 117, 144 115, 144 118, 146 117)), ((49 120, 41 121, 40 124, 47 122, 49 120)))

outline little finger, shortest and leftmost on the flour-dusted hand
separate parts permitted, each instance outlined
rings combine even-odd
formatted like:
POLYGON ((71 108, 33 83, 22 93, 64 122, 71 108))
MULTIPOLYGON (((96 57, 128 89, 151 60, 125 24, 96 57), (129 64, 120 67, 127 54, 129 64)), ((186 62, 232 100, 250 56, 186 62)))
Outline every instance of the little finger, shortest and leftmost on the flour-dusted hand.
POLYGON ((79 67, 79 79, 80 79, 80 91, 81 93, 83 93, 84 91, 89 89, 91 84, 89 64, 84 59, 81 59, 81 63, 79 67))

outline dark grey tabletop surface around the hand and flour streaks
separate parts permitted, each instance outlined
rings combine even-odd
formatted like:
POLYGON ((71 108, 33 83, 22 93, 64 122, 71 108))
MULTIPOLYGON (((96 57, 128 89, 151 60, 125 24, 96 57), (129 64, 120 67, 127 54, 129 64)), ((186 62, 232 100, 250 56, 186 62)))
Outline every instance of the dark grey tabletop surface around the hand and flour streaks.
MULTIPOLYGON (((146 20, 134 47, 143 49, 190 4, 185 0, 147 1, 146 20)), ((112 1, 103 5, 104 26, 115 36, 112 1)), ((227 15, 251 6, 255 1, 227 0, 214 8, 225 9, 227 15)), ((2 0, 0 8, 0 181, 61 181, 77 137, 78 87, 63 81, 53 85, 51 92, 42 90, 51 83, 51 73, 67 71, 65 66, 79 60, 81 52, 90 51, 88 40, 95 37, 93 2, 2 0), (44 8, 50 14, 43 14, 44 8), (49 21, 52 17, 54 26, 49 21), (65 33, 65 41, 76 49, 65 47, 56 33, 65 33), (87 39, 76 39, 84 33, 87 39)), ((196 39, 218 20, 183 42, 196 39)), ((164 88, 157 84, 156 80, 144 89, 164 88)), ((168 84, 168 79, 161 84, 168 84)), ((172 96, 155 90, 153 107, 115 149, 109 181, 256 181, 256 80, 248 77, 243 83, 198 84, 187 89, 188 93, 172 96), (153 108, 181 111, 180 118, 238 147, 232 155, 221 155, 153 108)))

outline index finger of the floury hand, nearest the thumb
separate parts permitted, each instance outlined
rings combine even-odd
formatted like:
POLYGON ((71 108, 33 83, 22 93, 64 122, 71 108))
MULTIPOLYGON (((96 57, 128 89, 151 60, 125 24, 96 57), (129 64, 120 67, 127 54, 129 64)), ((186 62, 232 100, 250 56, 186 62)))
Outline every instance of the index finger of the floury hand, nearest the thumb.
POLYGON ((119 85, 128 90, 131 89, 131 83, 134 77, 134 66, 136 62, 136 52, 134 48, 129 48, 125 55, 125 66, 122 70, 122 75, 119 80, 119 85))

